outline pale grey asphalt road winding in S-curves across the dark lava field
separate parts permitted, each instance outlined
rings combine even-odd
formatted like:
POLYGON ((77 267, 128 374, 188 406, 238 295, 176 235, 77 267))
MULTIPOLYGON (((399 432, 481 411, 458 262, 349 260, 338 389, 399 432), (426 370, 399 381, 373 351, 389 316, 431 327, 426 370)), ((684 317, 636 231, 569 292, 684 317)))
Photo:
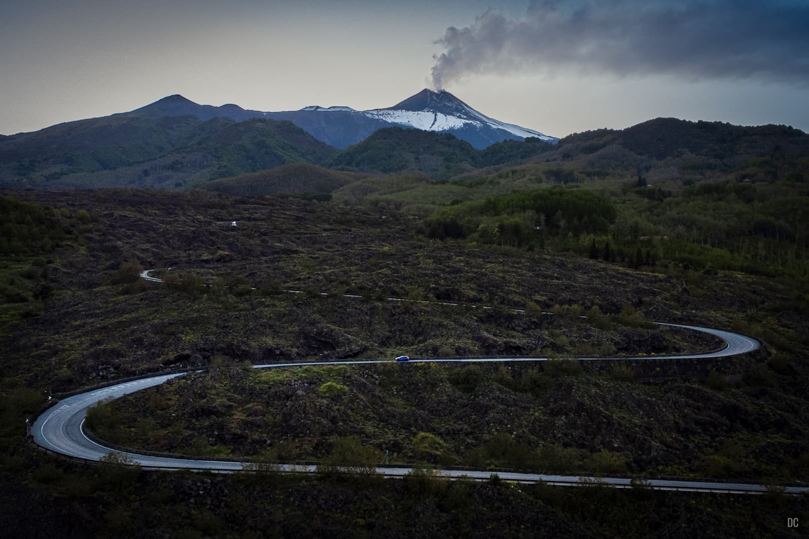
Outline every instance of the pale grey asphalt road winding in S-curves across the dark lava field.
MULTIPOLYGON (((142 277, 146 280, 160 282, 157 277, 149 276, 146 270, 142 277)), ((289 291, 297 293, 298 291, 289 291)), ((396 299, 396 298, 392 298, 396 299)), ((669 324, 655 322, 663 326, 675 326, 702 331, 710 335, 716 335, 722 339, 726 346, 718 352, 708 352, 704 354, 687 354, 679 356, 654 356, 658 359, 703 359, 713 357, 736 356, 746 352, 752 352, 760 347, 759 341, 732 333, 731 331, 715 330, 700 326, 684 326, 680 324, 669 324)), ((616 360, 627 359, 621 357, 589 357, 579 358, 579 360, 616 360)), ((440 363, 475 363, 475 362, 512 362, 512 361, 544 361, 547 358, 524 358, 524 357, 458 357, 458 358, 425 358, 413 359, 414 362, 440 362, 440 363)), ((357 360, 357 361, 315 361, 307 363, 287 363, 287 364, 263 364, 253 365, 253 368, 282 368, 282 367, 302 367, 306 365, 339 365, 339 364, 378 364, 391 363, 391 360, 357 360)), ((135 381, 126 381, 121 384, 111 385, 102 389, 88 390, 85 393, 77 394, 69 398, 62 399, 54 406, 41 414, 32 423, 30 434, 33 441, 40 448, 47 449, 53 453, 59 453, 66 457, 74 457, 86 461, 98 461, 112 451, 112 448, 105 447, 88 438, 83 432, 83 424, 87 415, 87 409, 96 402, 106 398, 119 398, 125 394, 162 384, 173 377, 183 376, 184 373, 164 374, 155 377, 142 378, 135 381)), ((231 473, 244 469, 248 462, 236 461, 210 461, 197 460, 193 458, 170 458, 153 457, 138 453, 124 453, 126 457, 137 462, 145 469, 167 469, 167 470, 212 470, 222 473, 231 473)), ((279 465, 278 471, 286 472, 315 472, 314 465, 279 465)), ((409 474, 409 467, 380 466, 377 473, 388 478, 401 478, 409 474)), ((435 470, 447 478, 460 478, 462 476, 478 481, 489 479, 491 474, 488 470, 435 470)), ((506 481, 534 483, 543 481, 551 485, 566 486, 586 486, 587 484, 599 481, 609 486, 618 488, 631 487, 629 478, 593 478, 566 475, 546 475, 546 474, 522 474, 514 472, 499 472, 499 477, 506 481)), ((664 479, 649 479, 647 485, 657 490, 672 491, 694 491, 694 492, 722 492, 722 493, 742 493, 761 494, 767 491, 767 487, 755 483, 726 483, 726 482, 701 482, 701 481, 674 481, 664 479)), ((809 488, 804 486, 787 486, 787 494, 803 494, 809 492, 809 488)))

